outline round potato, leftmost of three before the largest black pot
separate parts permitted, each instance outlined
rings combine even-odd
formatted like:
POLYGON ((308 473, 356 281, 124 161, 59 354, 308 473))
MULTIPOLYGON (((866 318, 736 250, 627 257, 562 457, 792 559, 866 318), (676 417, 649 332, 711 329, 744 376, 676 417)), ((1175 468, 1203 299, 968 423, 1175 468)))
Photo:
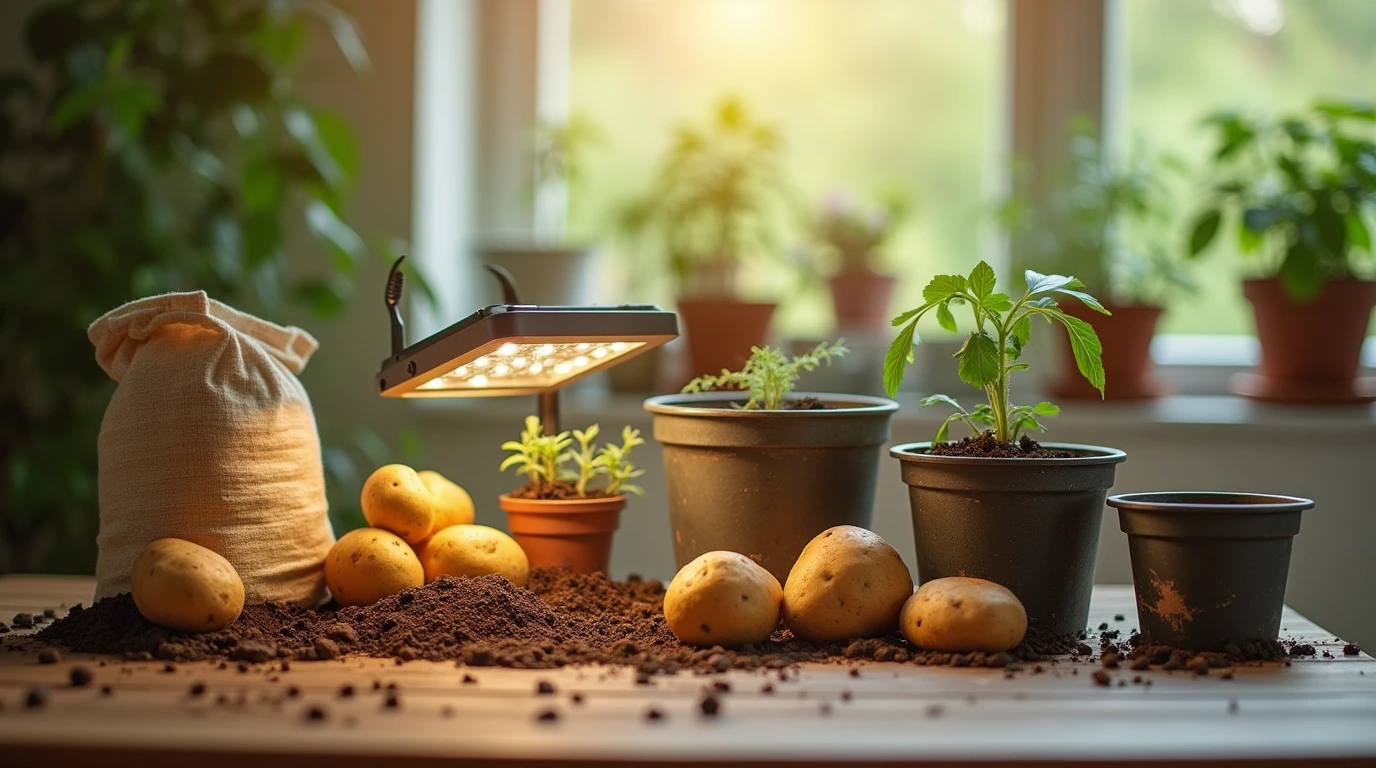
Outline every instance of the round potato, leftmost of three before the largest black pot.
POLYGON ((762 643, 779 626, 783 588, 736 552, 707 552, 684 566, 665 592, 665 621, 692 646, 762 643))

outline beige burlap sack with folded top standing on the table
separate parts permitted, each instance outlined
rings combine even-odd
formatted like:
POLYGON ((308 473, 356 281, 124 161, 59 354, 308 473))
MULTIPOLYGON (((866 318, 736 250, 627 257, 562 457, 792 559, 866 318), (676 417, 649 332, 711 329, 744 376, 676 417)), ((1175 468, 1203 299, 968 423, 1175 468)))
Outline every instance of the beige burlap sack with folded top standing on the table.
POLYGON ((334 533, 296 378, 315 339, 204 292, 132 301, 88 336, 120 384, 100 424, 96 599, 128 592, 143 546, 176 537, 233 563, 250 603, 319 601, 334 533))

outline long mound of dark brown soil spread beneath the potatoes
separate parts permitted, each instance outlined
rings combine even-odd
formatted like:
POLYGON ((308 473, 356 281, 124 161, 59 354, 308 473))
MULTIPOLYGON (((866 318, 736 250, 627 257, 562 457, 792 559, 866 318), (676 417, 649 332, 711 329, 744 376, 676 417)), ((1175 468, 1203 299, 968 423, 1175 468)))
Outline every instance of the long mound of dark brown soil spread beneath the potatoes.
POLYGON ((553 568, 531 574, 528 589, 495 575, 446 577, 365 607, 246 606, 223 630, 187 634, 150 623, 128 595, 120 595, 73 608, 39 633, 39 640, 129 659, 255 663, 354 652, 526 669, 600 662, 632 665, 641 674, 850 661, 1006 668, 1075 647, 1073 640, 1029 634, 1011 652, 948 654, 914 648, 899 636, 819 646, 780 629, 755 646, 698 648, 684 646, 669 630, 663 596, 658 581, 633 577, 621 582, 553 568))

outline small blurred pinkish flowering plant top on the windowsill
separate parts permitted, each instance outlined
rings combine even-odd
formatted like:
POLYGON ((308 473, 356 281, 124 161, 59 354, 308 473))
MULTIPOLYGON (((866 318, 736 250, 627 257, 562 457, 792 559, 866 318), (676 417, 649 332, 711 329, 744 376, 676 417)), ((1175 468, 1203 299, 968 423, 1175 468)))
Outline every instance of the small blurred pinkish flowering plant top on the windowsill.
POLYGON ((903 190, 882 189, 874 206, 859 205, 850 195, 834 191, 821 201, 812 223, 813 239, 830 262, 830 274, 878 274, 879 249, 912 213, 912 201, 903 190))

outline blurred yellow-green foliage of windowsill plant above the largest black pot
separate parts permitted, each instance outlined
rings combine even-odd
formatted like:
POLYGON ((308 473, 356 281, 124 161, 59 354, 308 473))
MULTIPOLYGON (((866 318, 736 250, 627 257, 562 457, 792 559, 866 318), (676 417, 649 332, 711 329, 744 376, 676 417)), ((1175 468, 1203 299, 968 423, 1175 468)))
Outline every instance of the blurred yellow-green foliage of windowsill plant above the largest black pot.
POLYGON ((777 129, 727 96, 705 125, 677 128, 654 186, 625 206, 619 228, 640 245, 658 241, 680 292, 735 296, 742 262, 783 257, 777 228, 791 187, 782 156, 777 129))

